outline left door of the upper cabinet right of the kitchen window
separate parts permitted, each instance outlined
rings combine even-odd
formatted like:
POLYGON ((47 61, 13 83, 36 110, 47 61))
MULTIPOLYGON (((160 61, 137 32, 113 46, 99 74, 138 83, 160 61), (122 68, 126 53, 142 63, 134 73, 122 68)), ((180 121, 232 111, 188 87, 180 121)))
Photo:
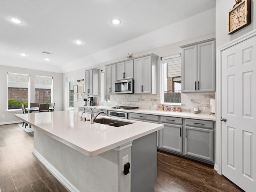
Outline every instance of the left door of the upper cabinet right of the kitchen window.
POLYGON ((183 93, 197 90, 197 45, 182 49, 182 82, 183 93))

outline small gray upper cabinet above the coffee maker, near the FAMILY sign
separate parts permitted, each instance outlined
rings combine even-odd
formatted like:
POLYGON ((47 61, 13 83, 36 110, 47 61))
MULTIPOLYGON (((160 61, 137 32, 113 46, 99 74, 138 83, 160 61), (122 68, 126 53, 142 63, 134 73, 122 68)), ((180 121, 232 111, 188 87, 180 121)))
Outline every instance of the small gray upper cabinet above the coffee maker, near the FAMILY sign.
POLYGON ((100 70, 99 69, 88 69, 85 70, 85 90, 84 92, 88 95, 99 94, 99 80, 100 70))

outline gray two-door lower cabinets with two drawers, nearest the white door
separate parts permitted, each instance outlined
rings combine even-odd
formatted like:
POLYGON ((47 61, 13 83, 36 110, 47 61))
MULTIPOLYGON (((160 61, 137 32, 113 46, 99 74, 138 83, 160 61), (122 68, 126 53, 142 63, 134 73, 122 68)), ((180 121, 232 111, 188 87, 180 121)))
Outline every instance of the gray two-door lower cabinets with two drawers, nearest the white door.
POLYGON ((207 120, 160 117, 159 147, 174 154, 213 164, 214 122, 207 120))

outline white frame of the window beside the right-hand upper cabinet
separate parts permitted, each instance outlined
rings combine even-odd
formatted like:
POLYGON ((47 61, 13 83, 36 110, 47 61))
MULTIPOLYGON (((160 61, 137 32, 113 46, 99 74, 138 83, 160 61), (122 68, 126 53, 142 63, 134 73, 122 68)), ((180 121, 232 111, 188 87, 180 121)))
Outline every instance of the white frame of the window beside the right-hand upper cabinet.
POLYGON ((171 55, 171 56, 167 56, 161 59, 161 71, 160 71, 160 102, 162 104, 165 105, 181 105, 180 103, 168 103, 168 102, 164 102, 164 77, 166 74, 164 74, 164 65, 162 60, 166 60, 166 59, 171 59, 171 58, 176 58, 176 57, 180 57, 181 54, 175 54, 175 55, 171 55))

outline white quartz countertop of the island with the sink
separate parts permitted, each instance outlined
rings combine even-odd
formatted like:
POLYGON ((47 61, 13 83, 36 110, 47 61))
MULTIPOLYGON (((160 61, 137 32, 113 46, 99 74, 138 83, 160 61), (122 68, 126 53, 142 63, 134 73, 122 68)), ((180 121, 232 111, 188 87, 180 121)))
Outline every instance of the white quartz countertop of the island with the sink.
MULTIPOLYGON (((90 114, 85 115, 86 119, 90 119, 90 114)), ((89 121, 80 121, 78 112, 74 111, 16 114, 15 116, 90 157, 164 128, 161 124, 119 118, 111 119, 133 123, 120 127, 99 123, 91 124, 89 121)), ((110 118, 106 116, 98 116, 97 118, 102 117, 110 118)))

